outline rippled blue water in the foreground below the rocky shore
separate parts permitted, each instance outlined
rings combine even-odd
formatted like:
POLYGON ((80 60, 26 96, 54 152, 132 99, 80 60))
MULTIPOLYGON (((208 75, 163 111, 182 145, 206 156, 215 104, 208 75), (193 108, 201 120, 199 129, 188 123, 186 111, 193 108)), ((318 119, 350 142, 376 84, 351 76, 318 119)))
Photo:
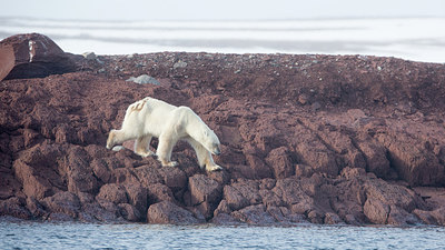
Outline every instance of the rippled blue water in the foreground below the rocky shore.
POLYGON ((0 249, 445 249, 438 227, 220 227, 1 221, 0 249))

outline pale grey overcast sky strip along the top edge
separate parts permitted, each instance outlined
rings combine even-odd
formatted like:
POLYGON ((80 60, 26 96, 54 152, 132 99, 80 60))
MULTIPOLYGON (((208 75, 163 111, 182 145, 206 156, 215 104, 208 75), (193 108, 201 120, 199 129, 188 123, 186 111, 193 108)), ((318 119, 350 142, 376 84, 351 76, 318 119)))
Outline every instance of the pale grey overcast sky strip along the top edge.
POLYGON ((445 0, 0 0, 0 17, 71 20, 445 17, 445 0))

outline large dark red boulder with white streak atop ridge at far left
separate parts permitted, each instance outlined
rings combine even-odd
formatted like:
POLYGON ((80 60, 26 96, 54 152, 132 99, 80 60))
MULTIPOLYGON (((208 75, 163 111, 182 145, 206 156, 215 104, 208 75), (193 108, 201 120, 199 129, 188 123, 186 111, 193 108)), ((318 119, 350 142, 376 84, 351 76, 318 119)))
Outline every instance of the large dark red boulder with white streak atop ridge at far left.
POLYGON ((73 56, 43 34, 17 34, 0 42, 0 80, 43 78, 76 69, 73 56))

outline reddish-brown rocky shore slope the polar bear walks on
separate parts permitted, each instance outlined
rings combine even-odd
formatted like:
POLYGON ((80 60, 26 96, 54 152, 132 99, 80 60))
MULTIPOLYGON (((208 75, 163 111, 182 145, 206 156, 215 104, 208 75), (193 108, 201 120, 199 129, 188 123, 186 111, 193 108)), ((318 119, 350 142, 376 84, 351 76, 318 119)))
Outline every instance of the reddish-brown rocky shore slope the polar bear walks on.
POLYGON ((174 52, 75 62, 0 82, 1 216, 445 224, 443 64, 174 52), (141 74, 159 84, 126 81, 141 74), (192 108, 218 134, 225 170, 200 170, 186 143, 177 168, 107 150, 108 131, 147 96, 192 108))

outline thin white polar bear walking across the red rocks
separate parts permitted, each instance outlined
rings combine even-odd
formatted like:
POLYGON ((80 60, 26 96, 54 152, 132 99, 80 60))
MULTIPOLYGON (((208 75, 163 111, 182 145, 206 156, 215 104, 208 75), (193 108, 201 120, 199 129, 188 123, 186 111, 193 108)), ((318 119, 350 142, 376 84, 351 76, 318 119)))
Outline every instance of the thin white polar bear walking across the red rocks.
POLYGON ((207 171, 221 169, 211 158, 220 154, 220 142, 209 127, 188 107, 176 107, 147 97, 130 104, 120 130, 111 130, 107 149, 128 140, 136 140, 135 153, 141 157, 155 156, 149 150, 151 138, 159 139, 156 154, 162 167, 175 167, 171 151, 178 140, 187 141, 196 151, 199 166, 207 171))

